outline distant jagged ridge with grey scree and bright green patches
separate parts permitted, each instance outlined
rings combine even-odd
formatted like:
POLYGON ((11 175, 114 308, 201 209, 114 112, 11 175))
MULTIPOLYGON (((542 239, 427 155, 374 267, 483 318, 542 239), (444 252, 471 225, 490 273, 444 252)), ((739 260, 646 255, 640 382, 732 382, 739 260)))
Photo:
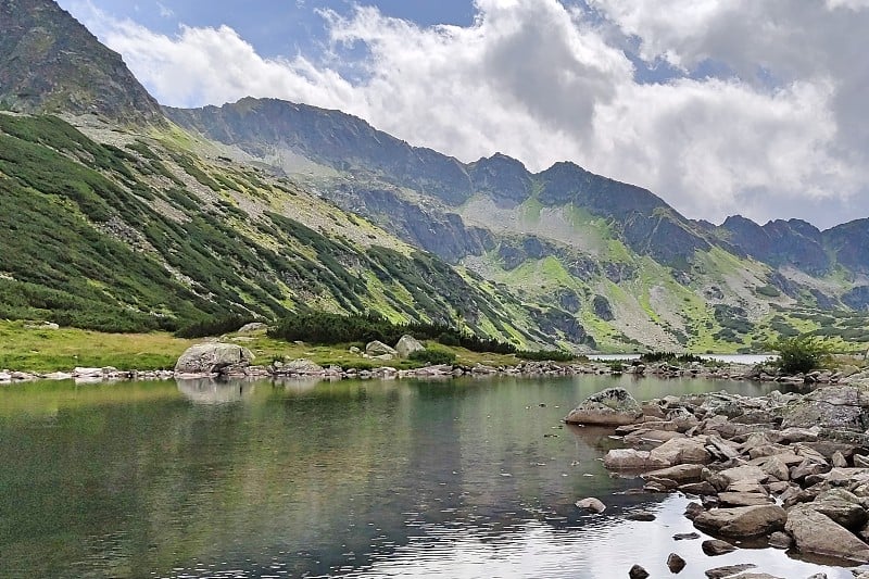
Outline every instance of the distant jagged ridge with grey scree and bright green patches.
POLYGON ((574 163, 537 174, 503 154, 465 164, 340 111, 275 99, 164 111, 526 303, 554 303, 602 348, 853 339, 830 313, 867 309, 866 224, 819 231, 734 216, 716 227, 574 163))

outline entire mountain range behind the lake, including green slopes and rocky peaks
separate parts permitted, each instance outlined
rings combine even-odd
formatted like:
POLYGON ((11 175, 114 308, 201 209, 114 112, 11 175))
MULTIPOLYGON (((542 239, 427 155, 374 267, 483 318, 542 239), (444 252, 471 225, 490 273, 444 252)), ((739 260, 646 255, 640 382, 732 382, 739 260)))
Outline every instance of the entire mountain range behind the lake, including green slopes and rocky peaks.
POLYGON ((0 0, 0 29, 4 317, 374 311, 524 348, 869 342, 869 219, 716 226, 574 163, 463 163, 340 111, 160 106, 49 0, 0 0))

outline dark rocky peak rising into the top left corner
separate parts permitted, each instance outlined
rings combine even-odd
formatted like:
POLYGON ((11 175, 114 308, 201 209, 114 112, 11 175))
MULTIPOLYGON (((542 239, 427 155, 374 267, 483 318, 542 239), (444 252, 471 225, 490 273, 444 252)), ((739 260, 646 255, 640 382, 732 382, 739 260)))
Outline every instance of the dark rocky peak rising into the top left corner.
POLYGON ((0 0, 0 109, 164 122, 121 55, 45 0, 0 0))

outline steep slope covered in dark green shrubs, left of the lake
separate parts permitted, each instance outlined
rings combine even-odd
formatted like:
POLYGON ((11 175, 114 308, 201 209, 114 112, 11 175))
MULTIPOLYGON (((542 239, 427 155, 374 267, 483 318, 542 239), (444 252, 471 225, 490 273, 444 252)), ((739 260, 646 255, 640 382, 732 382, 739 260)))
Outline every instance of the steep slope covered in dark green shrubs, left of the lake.
MULTIPOLYGON (((526 342, 508 292, 177 129, 0 114, 0 315, 105 330, 379 312, 526 342)), ((525 318, 525 320, 524 320, 525 318)))

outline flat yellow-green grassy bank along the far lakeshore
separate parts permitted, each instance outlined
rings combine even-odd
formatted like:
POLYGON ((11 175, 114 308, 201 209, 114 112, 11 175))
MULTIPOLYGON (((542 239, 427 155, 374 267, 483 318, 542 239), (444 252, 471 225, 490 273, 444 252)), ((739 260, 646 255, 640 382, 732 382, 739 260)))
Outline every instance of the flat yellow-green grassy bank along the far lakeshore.
MULTIPOLYGON (((228 335, 222 338, 249 348, 256 356, 255 364, 267 365, 274 360, 310 358, 317 364, 337 364, 343 367, 380 365, 350 353, 350 344, 311 345, 275 340, 265 333, 250 336, 228 335)), ((118 369, 172 368, 178 356, 190 345, 207 339, 180 339, 167 332, 151 333, 103 333, 74 328, 32 328, 24 322, 0 320, 0 369, 49 373, 70 370, 76 366, 118 369)), ((516 364, 514 355, 470 352, 463 348, 449 350, 456 355, 458 364, 476 363, 490 365, 516 364)), ((394 364, 398 367, 415 367, 407 361, 394 364)))

